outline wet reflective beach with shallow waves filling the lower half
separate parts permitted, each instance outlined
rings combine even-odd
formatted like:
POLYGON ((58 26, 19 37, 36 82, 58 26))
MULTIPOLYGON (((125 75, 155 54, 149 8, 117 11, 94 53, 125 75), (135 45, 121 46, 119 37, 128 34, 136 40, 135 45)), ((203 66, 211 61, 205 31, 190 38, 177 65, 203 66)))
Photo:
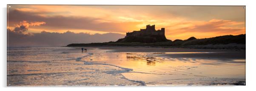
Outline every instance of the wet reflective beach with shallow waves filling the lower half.
POLYGON ((8 48, 8 86, 245 85, 245 49, 8 48))

